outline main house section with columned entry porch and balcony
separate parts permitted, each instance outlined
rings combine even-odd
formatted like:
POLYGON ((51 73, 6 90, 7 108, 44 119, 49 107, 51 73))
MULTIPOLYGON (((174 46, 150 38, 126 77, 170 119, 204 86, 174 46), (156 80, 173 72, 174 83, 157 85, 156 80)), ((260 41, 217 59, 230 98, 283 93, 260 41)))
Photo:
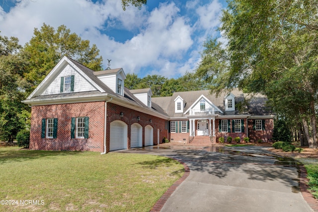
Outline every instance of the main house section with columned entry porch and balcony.
POLYGON ((229 136, 268 142, 272 137, 274 115, 262 95, 251 97, 237 89, 218 97, 210 91, 189 91, 153 102, 170 117, 169 139, 174 143, 207 145, 229 136))

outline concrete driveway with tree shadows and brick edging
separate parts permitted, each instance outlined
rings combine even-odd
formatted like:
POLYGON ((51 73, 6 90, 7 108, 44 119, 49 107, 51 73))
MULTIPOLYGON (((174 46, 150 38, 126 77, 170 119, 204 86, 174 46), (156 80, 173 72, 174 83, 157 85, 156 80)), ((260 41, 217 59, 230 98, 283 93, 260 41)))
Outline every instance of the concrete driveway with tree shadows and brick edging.
POLYGON ((296 161, 267 147, 146 147, 125 150, 168 156, 190 168, 162 212, 312 212, 300 192, 296 161))

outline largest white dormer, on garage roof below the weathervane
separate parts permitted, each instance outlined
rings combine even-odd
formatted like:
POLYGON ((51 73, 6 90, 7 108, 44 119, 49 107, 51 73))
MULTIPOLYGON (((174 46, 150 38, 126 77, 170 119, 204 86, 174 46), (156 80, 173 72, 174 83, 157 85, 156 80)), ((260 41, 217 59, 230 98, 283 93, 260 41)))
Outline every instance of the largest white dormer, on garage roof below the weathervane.
POLYGON ((116 94, 124 96, 126 75, 122 68, 94 72, 94 75, 116 94))

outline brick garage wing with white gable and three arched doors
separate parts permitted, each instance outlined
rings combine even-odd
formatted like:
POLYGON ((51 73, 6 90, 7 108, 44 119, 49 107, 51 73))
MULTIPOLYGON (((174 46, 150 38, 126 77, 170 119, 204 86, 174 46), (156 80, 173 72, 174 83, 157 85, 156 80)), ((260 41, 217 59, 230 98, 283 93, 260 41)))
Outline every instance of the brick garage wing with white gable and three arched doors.
POLYGON ((30 149, 113 150, 156 145, 167 114, 151 90, 124 87, 123 69, 94 72, 63 57, 24 101, 32 107, 30 149))

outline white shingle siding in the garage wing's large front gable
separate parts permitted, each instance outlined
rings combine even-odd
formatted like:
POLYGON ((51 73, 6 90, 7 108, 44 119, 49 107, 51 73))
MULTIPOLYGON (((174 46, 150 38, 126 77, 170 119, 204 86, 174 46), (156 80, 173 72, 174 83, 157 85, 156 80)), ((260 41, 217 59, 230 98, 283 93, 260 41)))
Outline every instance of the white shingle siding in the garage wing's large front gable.
POLYGON ((61 77, 74 75, 74 92, 97 91, 77 70, 67 65, 41 95, 60 94, 61 77))

